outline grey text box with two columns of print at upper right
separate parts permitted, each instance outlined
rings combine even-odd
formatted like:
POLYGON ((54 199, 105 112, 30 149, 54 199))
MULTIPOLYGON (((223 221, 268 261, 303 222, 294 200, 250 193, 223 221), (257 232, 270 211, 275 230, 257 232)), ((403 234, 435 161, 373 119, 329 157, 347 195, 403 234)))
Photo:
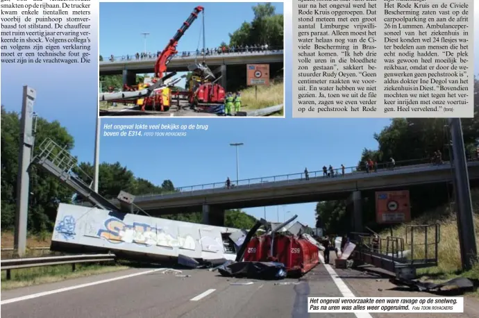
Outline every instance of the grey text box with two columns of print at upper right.
POLYGON ((473 1, 294 1, 294 117, 472 117, 473 1))

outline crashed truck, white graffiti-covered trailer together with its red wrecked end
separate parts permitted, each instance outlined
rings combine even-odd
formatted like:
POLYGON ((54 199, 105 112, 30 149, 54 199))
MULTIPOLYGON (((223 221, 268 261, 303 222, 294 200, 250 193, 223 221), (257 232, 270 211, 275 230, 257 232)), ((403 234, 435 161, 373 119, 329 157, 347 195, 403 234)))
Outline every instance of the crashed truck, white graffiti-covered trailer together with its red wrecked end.
POLYGON ((305 274, 319 264, 323 247, 303 230, 299 222, 275 228, 261 220, 246 231, 60 203, 51 250, 115 253, 122 259, 174 261, 187 267, 233 266, 226 276, 237 276, 239 267, 279 268, 285 277, 305 274), (258 236, 260 226, 267 232, 258 236))

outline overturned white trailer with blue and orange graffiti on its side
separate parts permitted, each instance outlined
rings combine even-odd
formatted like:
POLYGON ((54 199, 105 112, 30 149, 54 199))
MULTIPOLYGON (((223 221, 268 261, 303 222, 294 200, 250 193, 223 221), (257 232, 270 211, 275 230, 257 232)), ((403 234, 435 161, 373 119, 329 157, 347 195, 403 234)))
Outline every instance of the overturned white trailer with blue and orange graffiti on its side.
POLYGON ((234 260, 238 230, 60 203, 51 239, 54 251, 115 253, 118 258, 171 261, 183 255, 234 260))

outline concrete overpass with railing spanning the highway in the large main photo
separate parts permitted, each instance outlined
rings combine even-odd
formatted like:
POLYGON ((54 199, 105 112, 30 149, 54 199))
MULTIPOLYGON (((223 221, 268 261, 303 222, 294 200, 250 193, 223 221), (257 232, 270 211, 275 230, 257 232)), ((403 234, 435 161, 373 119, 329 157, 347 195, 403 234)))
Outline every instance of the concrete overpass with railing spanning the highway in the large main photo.
MULTIPOLYGON (((401 164, 401 162, 397 162, 401 164)), ((479 179, 479 161, 468 162, 469 178, 479 179)), ((283 204, 307 203, 348 199, 354 209, 355 224, 362 227, 362 195, 364 191, 394 190, 414 185, 449 183, 453 181, 453 169, 444 165, 410 162, 401 167, 379 167, 376 172, 355 171, 336 176, 323 176, 323 171, 304 174, 288 174, 247 179, 230 188, 225 183, 211 183, 182 187, 176 192, 136 196, 135 204, 149 215, 171 215, 186 212, 203 212, 203 222, 221 225, 224 211, 233 208, 253 208, 283 204), (415 164, 413 164, 415 163, 415 164)), ((337 169, 339 170, 339 169, 337 169)), ((236 182, 232 182, 232 185, 236 182)), ((119 203, 112 201, 115 205, 119 203)))

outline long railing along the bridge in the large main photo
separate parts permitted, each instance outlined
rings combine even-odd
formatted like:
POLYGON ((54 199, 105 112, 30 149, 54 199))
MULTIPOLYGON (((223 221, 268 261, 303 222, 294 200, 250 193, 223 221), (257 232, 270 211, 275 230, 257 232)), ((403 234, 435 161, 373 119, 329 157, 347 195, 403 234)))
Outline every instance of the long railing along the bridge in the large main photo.
MULTIPOLYGON (((447 162, 443 162, 439 165, 445 165, 447 162)), ((295 174, 282 174, 278 176, 264 176, 260 178, 249 178, 243 179, 239 181, 230 181, 231 189, 237 187, 249 187, 250 185, 260 185, 264 184, 267 185, 268 183, 273 182, 280 182, 280 181, 300 181, 300 180, 309 180, 312 178, 341 178, 342 176, 351 175, 351 174, 375 174, 380 173, 383 171, 390 171, 390 170, 398 170, 398 169, 408 169, 412 167, 421 167, 421 166, 430 166, 430 165, 438 165, 436 162, 432 162, 431 158, 421 158, 421 159, 414 159, 414 160, 404 160, 404 161, 396 161, 394 165, 392 162, 381 162, 376 165, 373 165, 372 169, 366 167, 364 163, 360 166, 354 167, 342 167, 340 168, 333 168, 328 169, 326 167, 326 172, 322 169, 319 171, 308 171, 308 175, 305 172, 295 173, 295 174), (331 174, 331 170, 333 174, 331 174), (344 173, 343 173, 344 170, 344 173)), ((158 195, 168 195, 168 194, 175 194, 175 193, 184 193, 190 194, 194 191, 199 190, 214 190, 214 189, 225 189, 228 188, 226 185, 226 181, 217 182, 217 183, 206 183, 203 185, 190 185, 187 187, 177 187, 174 191, 162 192, 162 193, 152 193, 152 194, 144 194, 141 196, 136 196, 137 198, 148 197, 148 196, 158 196, 158 195)))

